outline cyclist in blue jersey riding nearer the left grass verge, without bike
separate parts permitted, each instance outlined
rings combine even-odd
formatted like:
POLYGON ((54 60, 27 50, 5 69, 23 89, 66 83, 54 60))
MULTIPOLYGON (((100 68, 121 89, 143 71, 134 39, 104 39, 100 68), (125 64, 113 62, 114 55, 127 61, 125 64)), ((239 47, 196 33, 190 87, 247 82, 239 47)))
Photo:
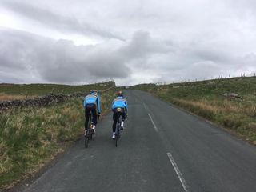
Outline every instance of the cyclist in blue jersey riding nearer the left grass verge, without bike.
POLYGON ((95 134, 95 126, 97 125, 97 114, 98 116, 101 114, 101 105, 100 100, 97 94, 97 90, 90 90, 90 94, 88 94, 83 100, 83 106, 85 107, 85 136, 88 128, 88 121, 90 116, 90 111, 92 114, 92 122, 93 122, 93 134, 95 134))

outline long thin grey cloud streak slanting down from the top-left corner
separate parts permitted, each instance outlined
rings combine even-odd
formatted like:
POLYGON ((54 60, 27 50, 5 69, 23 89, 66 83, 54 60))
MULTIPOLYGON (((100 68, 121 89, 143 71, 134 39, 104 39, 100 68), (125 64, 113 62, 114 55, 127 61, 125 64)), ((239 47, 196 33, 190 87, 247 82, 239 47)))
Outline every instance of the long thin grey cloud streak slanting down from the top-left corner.
POLYGON ((26 18, 40 22, 45 26, 51 27, 54 30, 123 40, 118 34, 111 33, 101 26, 89 22, 79 22, 77 18, 55 14, 50 10, 46 10, 46 8, 34 6, 26 2, 3 0, 2 6, 14 11, 16 14, 20 14, 26 18))

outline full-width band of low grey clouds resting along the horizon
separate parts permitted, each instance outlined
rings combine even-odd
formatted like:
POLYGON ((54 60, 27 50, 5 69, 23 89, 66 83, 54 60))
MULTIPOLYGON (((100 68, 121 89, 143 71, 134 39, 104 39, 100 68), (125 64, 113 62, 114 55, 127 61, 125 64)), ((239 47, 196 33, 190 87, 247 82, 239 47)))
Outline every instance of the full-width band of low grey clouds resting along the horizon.
POLYGON ((75 83, 116 78, 123 85, 224 77, 255 70, 253 50, 233 50, 232 45, 219 46, 218 41, 159 39, 146 30, 135 31, 126 42, 112 39, 94 46, 75 46, 65 39, 56 42, 14 30, 0 30, 0 34, 0 69, 13 70, 22 78, 25 73, 38 77, 31 81, 75 83), (24 72, 18 72, 20 69, 24 72))

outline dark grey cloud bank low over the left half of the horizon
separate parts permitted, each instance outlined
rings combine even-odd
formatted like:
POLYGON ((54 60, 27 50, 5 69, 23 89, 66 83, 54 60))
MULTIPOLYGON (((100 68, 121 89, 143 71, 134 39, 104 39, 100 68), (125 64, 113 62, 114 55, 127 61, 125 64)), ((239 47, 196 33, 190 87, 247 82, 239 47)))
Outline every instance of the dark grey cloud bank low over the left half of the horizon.
POLYGON ((0 62, 0 68, 8 67, 14 74, 22 68, 25 74, 36 71, 40 82, 71 83, 126 78, 130 72, 124 59, 102 45, 75 46, 67 40, 54 42, 32 34, 27 38, 22 31, 0 31, 0 55, 7 61, 0 62))

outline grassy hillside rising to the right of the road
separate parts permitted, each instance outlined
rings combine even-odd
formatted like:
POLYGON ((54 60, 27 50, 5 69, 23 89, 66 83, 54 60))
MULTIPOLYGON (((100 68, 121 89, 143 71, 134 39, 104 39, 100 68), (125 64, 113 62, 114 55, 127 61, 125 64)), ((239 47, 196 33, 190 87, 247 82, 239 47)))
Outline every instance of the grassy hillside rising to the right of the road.
POLYGON ((165 102, 225 127, 256 144, 256 78, 227 78, 166 86, 143 84, 134 89, 148 91, 165 102), (231 99, 224 94, 238 94, 231 99))

